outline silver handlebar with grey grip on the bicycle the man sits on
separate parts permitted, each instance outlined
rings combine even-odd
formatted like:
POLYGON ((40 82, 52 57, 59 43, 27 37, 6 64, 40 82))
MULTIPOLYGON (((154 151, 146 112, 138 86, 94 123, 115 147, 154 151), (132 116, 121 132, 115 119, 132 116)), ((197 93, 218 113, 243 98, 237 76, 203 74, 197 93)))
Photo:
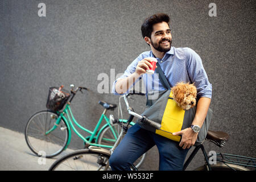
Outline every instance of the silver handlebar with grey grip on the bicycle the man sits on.
MULTIPOLYGON (((139 95, 142 95, 140 93, 131 93, 131 94, 139 94, 139 95)), ((144 95, 144 94, 143 94, 144 95)), ((133 111, 133 109, 129 106, 129 102, 127 101, 127 96, 129 96, 129 94, 125 94, 123 95, 123 100, 125 100, 125 104, 126 104, 126 107, 127 107, 127 111, 130 115, 134 115, 135 117, 141 119, 141 122, 148 125, 148 126, 151 126, 151 127, 154 127, 155 129, 160 129, 161 125, 157 122, 154 122, 154 121, 151 121, 150 119, 148 119, 146 117, 146 115, 140 115, 140 114, 137 114, 133 111)))

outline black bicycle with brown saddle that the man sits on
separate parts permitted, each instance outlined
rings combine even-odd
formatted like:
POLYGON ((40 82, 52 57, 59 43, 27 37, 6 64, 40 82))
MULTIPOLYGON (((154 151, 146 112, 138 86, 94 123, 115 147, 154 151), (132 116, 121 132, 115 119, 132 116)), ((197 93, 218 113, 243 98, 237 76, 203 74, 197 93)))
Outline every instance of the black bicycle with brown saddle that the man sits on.
MULTIPOLYGON (((159 123, 156 123, 154 121, 150 121, 150 119, 146 117, 142 117, 142 115, 137 114, 134 112, 133 108, 129 106, 129 102, 127 101, 127 98, 130 97, 130 95, 133 94, 139 94, 144 95, 142 93, 130 93, 125 94, 121 96, 123 100, 125 101, 125 104, 127 106, 127 111, 130 114, 129 119, 127 120, 127 123, 123 125, 122 122, 119 122, 119 119, 114 118, 113 115, 110 115, 110 122, 112 125, 115 123, 119 123, 119 125, 122 126, 121 133, 125 135, 127 133, 127 129, 129 126, 129 123, 133 120, 134 117, 137 117, 139 119, 142 119, 143 123, 152 127, 155 127, 156 129, 160 129, 161 125, 159 123)), ((105 148, 90 146, 87 149, 84 150, 77 150, 75 152, 72 152, 71 154, 65 155, 62 158, 56 160, 55 163, 52 164, 52 166, 49 168, 50 171, 52 170, 64 170, 64 171, 98 171, 98 170, 111 170, 109 167, 109 158, 110 155, 113 153, 114 149, 118 146, 118 144, 121 142, 123 135, 119 135, 118 139, 116 140, 113 148, 110 150, 106 150, 105 148)), ((207 137, 205 140, 209 140, 210 142, 213 142, 218 147, 224 147, 225 143, 228 142, 229 135, 222 132, 222 131, 208 131, 207 137)), ((248 171, 250 168, 256 169, 256 159, 255 158, 248 158, 245 156, 239 156, 239 155, 231 155, 231 154, 216 154, 216 164, 211 164, 211 159, 214 157, 213 155, 208 156, 207 152, 205 151, 205 148, 203 144, 199 144, 195 147, 191 155, 188 157, 187 161, 184 163, 183 170, 185 170, 189 163, 191 163, 192 159, 195 157, 197 152, 201 149, 201 151, 204 154, 204 160, 205 164, 203 166, 200 166, 196 168, 197 171, 248 171)), ((131 166, 132 170, 138 170, 134 165, 131 166)))

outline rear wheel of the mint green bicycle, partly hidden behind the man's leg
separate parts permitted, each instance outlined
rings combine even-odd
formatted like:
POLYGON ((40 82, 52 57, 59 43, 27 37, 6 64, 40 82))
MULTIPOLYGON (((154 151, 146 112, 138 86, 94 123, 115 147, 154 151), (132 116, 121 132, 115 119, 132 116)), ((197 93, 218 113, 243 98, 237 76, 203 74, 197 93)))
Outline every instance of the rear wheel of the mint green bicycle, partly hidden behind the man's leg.
MULTIPOLYGON (((118 137, 118 134, 120 133, 121 129, 119 129, 119 124, 115 123, 114 125, 112 125, 114 131, 115 131, 115 135, 116 137, 118 137)), ((105 140, 106 139, 114 139, 114 134, 113 131, 110 129, 109 126, 106 126, 104 130, 101 131, 99 137, 98 137, 98 144, 104 144, 104 145, 108 145, 108 146, 113 146, 114 144, 114 140, 112 142, 112 140, 105 140), (112 142, 112 143, 111 143, 112 142)), ((142 163, 144 162, 144 159, 146 158, 146 152, 144 154, 142 154, 142 156, 140 156, 135 162, 134 162, 134 166, 136 168, 139 168, 142 166, 142 163)))

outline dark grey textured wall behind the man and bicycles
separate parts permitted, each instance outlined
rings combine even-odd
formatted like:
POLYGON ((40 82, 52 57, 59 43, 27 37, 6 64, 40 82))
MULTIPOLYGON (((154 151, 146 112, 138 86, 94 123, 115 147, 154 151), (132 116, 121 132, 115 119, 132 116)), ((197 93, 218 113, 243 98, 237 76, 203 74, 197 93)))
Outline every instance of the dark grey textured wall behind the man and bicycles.
MULTIPOLYGON (((230 134, 221 150, 209 142, 206 149, 255 157, 255 1, 0 1, 0 126, 23 132, 27 119, 46 109, 49 86, 75 84, 92 90, 77 95, 72 108, 93 129, 103 110, 98 100, 119 101, 97 92, 98 75, 122 73, 149 49, 141 24, 160 12, 171 17, 172 45, 190 47, 203 60, 213 85, 210 129, 230 134), (38 16, 40 2, 46 17, 38 16), (211 2, 216 17, 208 15, 211 2)), ((141 112, 144 100, 136 98, 141 112)), ((82 147, 75 135, 71 147, 82 147)), ((155 155, 156 147, 143 169, 158 169, 155 155)), ((189 169, 203 164, 201 156, 189 169)))

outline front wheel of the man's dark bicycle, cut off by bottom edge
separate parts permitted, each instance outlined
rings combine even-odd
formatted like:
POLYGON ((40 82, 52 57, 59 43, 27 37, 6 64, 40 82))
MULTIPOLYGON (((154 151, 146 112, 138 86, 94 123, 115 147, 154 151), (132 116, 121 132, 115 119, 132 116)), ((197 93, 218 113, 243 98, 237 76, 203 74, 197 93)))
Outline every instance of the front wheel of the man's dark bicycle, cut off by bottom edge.
POLYGON ((57 159, 49 171, 108 171, 110 154, 101 150, 101 148, 98 150, 86 148, 72 152, 57 159))

